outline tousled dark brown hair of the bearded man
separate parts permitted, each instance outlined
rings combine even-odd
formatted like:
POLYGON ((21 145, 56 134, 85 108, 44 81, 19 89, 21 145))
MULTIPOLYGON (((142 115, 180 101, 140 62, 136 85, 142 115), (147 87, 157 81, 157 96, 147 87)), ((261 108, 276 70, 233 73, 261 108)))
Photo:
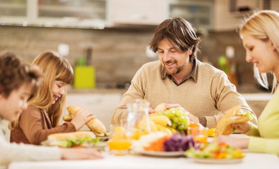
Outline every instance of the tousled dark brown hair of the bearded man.
POLYGON ((165 38, 179 52, 186 52, 192 49, 190 62, 193 62, 201 39, 196 36, 189 22, 179 17, 173 17, 162 22, 155 30, 155 34, 149 44, 150 49, 153 52, 157 52, 158 45, 165 38))

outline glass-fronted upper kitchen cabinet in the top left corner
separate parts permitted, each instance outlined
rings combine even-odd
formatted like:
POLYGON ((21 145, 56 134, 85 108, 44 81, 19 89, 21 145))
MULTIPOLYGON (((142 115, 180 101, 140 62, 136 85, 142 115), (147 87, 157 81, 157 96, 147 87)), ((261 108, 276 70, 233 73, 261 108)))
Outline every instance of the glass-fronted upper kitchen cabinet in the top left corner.
POLYGON ((110 24, 110 0, 0 1, 2 25, 99 28, 110 24))

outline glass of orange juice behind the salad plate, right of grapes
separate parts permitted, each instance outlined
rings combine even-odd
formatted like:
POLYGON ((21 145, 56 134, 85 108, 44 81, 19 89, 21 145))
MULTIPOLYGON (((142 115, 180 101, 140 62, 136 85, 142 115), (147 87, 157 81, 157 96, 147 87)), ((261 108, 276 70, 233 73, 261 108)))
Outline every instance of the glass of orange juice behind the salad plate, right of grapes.
POLYGON ((193 137, 195 142, 200 143, 207 143, 207 128, 200 128, 198 126, 192 126, 187 128, 187 135, 190 135, 193 137))

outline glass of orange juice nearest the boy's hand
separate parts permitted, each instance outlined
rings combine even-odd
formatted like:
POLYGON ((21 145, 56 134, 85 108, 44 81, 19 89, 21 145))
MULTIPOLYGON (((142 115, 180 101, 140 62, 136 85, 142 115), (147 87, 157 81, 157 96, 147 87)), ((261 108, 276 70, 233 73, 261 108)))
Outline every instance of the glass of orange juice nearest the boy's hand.
POLYGON ((108 141, 110 154, 113 155, 126 155, 131 146, 130 137, 127 136, 127 131, 124 126, 112 125, 111 135, 108 141))

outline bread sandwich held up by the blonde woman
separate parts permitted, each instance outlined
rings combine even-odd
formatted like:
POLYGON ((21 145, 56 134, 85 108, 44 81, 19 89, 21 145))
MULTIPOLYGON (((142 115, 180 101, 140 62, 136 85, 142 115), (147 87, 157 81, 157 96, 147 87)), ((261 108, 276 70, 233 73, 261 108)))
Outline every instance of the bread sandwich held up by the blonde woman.
POLYGON ((230 135, 233 131, 232 124, 249 121, 249 116, 237 116, 236 113, 241 111, 240 106, 235 106, 225 112, 216 125, 217 136, 230 135))

